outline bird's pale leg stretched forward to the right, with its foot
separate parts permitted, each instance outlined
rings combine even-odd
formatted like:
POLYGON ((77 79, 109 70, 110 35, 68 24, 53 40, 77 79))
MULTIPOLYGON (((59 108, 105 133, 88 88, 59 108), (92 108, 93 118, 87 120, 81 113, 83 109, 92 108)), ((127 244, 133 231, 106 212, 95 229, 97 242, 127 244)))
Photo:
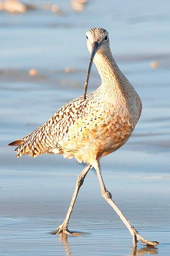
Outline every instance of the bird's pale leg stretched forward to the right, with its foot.
POLYGON ((152 245, 152 246, 158 245, 159 244, 158 242, 156 242, 156 241, 155 242, 154 241, 147 241, 145 238, 140 236, 138 231, 130 224, 130 222, 126 219, 124 214, 121 212, 121 210, 115 204, 114 200, 112 199, 111 193, 108 192, 108 190, 106 190, 106 187, 104 185, 104 181, 103 181, 103 178, 102 178, 102 174, 100 172, 99 164, 96 164, 96 166, 94 168, 96 169, 98 180, 100 182, 100 188, 101 188, 102 196, 110 204, 110 206, 112 206, 112 208, 115 210, 115 212, 118 214, 120 219, 124 222, 124 224, 126 225, 128 230, 130 231, 130 234, 132 235, 132 238, 133 238, 133 246, 136 248, 138 241, 141 241, 141 242, 143 242, 147 245, 152 245))

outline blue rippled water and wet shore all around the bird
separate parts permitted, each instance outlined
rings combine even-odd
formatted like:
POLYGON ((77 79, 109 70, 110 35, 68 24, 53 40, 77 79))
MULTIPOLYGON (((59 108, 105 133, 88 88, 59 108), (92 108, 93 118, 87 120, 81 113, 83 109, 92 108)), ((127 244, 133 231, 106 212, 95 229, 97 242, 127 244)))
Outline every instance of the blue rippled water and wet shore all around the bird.
MULTIPOLYGON (((22 2, 36 9, 0 12, 1 255, 168 256, 170 1, 22 2), (160 242, 155 249, 139 244, 132 250, 93 171, 70 220, 70 230, 90 234, 68 240, 48 234, 64 220, 83 166, 53 155, 16 159, 14 148, 7 147, 82 95, 90 57, 85 33, 91 27, 108 30, 113 56, 143 102, 133 136, 101 161, 106 187, 137 230, 160 242)), ((99 85, 94 66, 88 91, 99 85)))

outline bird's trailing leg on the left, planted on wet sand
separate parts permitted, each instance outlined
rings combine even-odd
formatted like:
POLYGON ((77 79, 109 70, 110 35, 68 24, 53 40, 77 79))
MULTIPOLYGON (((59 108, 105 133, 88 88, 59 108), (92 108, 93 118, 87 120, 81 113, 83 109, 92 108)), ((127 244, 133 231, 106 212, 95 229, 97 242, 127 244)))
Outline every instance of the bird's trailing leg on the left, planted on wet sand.
POLYGON ((66 218, 63 221, 63 223, 56 229, 54 234, 66 233, 66 234, 71 234, 72 235, 72 232, 70 232, 68 230, 68 222, 69 222, 70 216, 72 214, 73 207, 74 207, 74 204, 76 202, 76 198, 78 196, 78 192, 80 190, 80 187, 82 186, 82 184, 84 182, 84 178, 86 177, 90 168, 91 168, 91 165, 87 164, 86 167, 82 170, 82 172, 78 175, 77 182, 76 182, 76 187, 75 187, 74 193, 72 195, 72 200, 71 200, 70 206, 68 208, 66 218))

